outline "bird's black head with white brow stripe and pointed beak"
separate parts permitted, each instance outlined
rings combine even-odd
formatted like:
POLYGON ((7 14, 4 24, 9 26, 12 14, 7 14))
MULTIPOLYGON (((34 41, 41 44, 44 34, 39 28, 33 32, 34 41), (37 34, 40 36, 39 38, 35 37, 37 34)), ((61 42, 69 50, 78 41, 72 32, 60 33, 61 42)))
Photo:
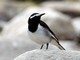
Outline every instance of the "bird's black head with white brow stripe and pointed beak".
POLYGON ((39 14, 39 13, 33 13, 29 19, 28 19, 28 24, 38 24, 40 22, 40 18, 42 15, 45 13, 39 14))

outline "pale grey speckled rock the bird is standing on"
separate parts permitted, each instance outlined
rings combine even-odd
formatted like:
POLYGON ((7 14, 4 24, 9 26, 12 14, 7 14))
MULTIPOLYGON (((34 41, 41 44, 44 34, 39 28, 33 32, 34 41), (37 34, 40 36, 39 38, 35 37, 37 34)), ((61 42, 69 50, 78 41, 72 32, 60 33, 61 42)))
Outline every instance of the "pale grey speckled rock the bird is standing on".
POLYGON ((63 50, 32 50, 21 54, 14 60, 80 60, 80 52, 63 50))

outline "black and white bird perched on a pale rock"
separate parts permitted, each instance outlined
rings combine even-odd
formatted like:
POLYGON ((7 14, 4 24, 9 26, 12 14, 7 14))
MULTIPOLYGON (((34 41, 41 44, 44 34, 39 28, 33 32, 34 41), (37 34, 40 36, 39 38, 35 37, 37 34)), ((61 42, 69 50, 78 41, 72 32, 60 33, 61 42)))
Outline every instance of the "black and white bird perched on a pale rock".
POLYGON ((46 44, 48 49, 48 45, 51 41, 56 45, 59 49, 65 50, 59 43, 56 35, 51 31, 48 25, 41 21, 41 16, 45 13, 33 13, 28 19, 28 35, 31 40, 35 41, 38 44, 41 44, 41 48, 46 44))

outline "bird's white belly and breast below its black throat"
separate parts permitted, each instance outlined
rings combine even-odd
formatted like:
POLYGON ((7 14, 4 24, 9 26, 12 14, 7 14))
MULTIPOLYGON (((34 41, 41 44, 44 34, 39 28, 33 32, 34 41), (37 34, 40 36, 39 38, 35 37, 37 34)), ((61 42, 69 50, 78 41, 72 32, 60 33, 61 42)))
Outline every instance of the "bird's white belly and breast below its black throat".
POLYGON ((51 36, 49 32, 40 25, 38 26, 36 32, 32 33, 28 31, 28 35, 31 40, 35 41, 38 44, 46 44, 51 42, 51 36))

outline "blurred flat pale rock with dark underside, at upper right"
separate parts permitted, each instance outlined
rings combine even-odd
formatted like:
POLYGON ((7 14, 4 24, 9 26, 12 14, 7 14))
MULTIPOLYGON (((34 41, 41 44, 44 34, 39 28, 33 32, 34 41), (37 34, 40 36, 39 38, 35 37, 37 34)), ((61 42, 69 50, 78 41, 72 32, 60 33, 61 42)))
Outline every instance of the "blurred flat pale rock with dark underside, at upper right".
POLYGON ((44 2, 41 6, 56 9, 71 17, 80 16, 80 3, 78 2, 44 2))

